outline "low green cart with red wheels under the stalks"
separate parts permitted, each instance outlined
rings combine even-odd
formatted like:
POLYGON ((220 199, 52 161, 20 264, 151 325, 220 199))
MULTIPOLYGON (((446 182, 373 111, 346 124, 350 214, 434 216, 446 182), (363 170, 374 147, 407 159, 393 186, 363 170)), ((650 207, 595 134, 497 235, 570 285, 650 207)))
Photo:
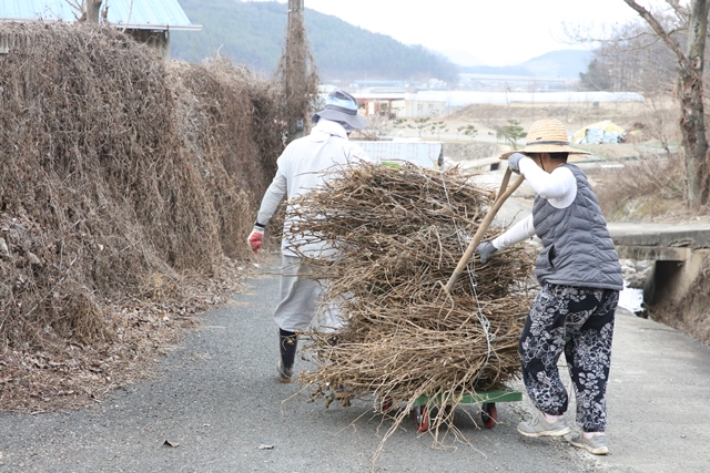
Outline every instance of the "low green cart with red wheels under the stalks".
MULTIPOLYGON (((426 432, 430 426, 430 417, 427 404, 434 401, 434 404, 440 407, 449 407, 445 395, 436 395, 429 398, 427 395, 419 395, 414 401, 414 423, 417 431, 426 432)), ((458 398, 458 397, 457 397, 458 398)), ((498 410, 496 409, 496 402, 517 402, 523 400, 523 393, 513 389, 501 389, 496 391, 480 391, 480 392, 467 392, 458 399, 459 404, 478 404, 480 403, 480 418, 486 429, 493 429, 498 421, 498 410)), ((384 405, 383 405, 384 409, 384 405)))

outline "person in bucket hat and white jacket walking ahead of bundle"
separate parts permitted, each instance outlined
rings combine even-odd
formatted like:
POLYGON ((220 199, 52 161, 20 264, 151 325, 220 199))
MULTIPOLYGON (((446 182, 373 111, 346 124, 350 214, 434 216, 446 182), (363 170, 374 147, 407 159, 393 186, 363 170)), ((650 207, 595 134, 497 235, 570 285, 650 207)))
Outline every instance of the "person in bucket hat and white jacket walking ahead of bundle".
MULTIPOLYGON (((276 175, 262 198, 254 229, 247 238, 254 253, 261 248, 264 228, 284 196, 292 200, 326 183, 337 168, 369 161, 363 148, 348 141, 351 132, 366 125, 365 117, 357 113, 357 101, 351 94, 342 90, 331 92, 325 107, 312 120, 316 125, 311 134, 288 144, 276 162, 276 175)), ((312 277, 312 268, 292 249, 298 244, 301 254, 317 257, 325 249, 324 244, 305 243, 307 236, 291 234, 293 223, 288 217, 284 222, 280 302, 274 310, 281 354, 278 378, 287 383, 293 379, 297 348, 295 332, 308 328, 324 292, 322 281, 312 277)), ((327 312, 327 326, 339 327, 335 311, 327 312)))

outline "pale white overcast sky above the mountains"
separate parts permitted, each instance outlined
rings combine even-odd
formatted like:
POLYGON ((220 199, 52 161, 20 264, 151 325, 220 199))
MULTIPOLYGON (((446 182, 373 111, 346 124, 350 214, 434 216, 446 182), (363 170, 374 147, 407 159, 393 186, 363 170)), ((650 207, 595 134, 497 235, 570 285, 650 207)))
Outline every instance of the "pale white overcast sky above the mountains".
POLYGON ((405 44, 443 52, 460 65, 478 65, 474 60, 462 63, 467 56, 484 65, 516 65, 550 51, 589 49, 566 43, 562 23, 598 30, 639 19, 623 0, 304 0, 304 4, 405 44))

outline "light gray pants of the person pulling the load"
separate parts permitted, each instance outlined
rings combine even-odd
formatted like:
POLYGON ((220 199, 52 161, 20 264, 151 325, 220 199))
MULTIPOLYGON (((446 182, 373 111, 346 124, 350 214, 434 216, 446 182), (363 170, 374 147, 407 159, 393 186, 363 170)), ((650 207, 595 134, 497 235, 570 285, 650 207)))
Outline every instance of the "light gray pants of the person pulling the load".
POLYGON ((313 279, 313 268, 295 256, 282 256, 281 296, 274 310, 274 321, 282 330, 307 330, 313 317, 321 330, 333 331, 342 326, 336 307, 322 307, 326 281, 313 279))

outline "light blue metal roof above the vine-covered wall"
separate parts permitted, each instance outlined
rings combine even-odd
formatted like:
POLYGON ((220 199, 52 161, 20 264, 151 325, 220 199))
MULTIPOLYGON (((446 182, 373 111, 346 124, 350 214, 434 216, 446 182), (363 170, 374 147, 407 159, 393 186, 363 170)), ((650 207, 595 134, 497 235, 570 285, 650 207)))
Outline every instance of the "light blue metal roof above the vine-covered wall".
MULTIPOLYGON (((109 23, 136 30, 193 30, 178 0, 104 0, 109 23)), ((1 0, 1 21, 75 21, 75 10, 65 0, 1 0)))

